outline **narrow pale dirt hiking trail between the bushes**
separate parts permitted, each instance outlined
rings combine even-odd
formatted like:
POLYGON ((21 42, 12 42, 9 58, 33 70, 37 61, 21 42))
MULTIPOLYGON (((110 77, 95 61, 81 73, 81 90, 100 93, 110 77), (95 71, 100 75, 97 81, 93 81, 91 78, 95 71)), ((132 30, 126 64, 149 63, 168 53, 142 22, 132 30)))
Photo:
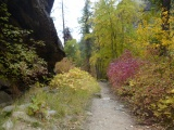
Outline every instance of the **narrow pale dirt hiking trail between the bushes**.
POLYGON ((101 98, 92 101, 85 130, 161 130, 136 125, 125 106, 117 101, 107 82, 99 82, 101 98))

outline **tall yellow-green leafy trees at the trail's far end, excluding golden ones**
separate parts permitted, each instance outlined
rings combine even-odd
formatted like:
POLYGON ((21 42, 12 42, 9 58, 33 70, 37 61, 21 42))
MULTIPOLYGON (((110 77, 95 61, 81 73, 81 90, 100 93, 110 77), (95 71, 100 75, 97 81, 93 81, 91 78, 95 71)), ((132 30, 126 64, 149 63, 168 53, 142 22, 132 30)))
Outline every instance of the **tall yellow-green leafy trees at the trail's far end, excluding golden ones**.
POLYGON ((119 4, 114 0, 96 3, 91 18, 90 37, 95 42, 90 62, 99 78, 104 78, 107 66, 113 58, 130 48, 128 38, 133 37, 138 14, 138 5, 132 0, 122 0, 119 4))

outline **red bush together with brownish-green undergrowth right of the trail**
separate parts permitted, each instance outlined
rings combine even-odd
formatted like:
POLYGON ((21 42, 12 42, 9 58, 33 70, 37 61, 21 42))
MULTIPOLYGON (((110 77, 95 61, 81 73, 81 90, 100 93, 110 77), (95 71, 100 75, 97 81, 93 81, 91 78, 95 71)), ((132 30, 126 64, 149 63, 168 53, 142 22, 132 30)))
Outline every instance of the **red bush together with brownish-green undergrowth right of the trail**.
POLYGON ((174 60, 151 55, 139 62, 124 53, 108 72, 113 90, 144 123, 174 127, 174 60), (141 64, 144 63, 144 64, 141 64))

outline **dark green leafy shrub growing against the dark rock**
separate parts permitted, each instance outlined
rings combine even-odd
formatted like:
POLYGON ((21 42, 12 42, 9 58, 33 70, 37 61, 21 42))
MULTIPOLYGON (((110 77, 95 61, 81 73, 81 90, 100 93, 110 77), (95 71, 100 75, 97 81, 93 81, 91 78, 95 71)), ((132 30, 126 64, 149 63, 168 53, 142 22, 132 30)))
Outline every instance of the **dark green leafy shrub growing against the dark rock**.
POLYGON ((26 89, 47 75, 47 63, 37 55, 35 49, 36 44, 44 43, 28 40, 32 31, 9 24, 10 14, 4 3, 0 4, 0 79, 8 80, 13 91, 26 89))

